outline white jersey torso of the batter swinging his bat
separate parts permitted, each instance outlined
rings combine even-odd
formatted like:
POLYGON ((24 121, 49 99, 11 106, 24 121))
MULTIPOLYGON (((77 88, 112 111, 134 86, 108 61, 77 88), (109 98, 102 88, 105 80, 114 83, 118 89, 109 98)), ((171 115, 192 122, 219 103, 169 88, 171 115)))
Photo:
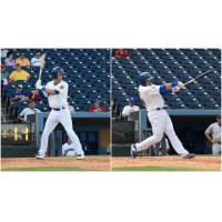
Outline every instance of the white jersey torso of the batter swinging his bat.
POLYGON ((148 111, 164 107, 164 100, 160 94, 160 85, 151 84, 148 87, 139 87, 140 99, 144 102, 148 111))

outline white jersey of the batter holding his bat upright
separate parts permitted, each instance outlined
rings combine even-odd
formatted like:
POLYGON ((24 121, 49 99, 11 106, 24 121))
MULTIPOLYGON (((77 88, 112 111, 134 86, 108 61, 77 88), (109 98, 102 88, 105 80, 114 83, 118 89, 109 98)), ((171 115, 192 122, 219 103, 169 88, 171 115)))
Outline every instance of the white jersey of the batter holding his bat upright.
POLYGON ((59 109, 59 108, 67 108, 68 107, 68 89, 69 85, 63 80, 58 84, 54 84, 53 81, 48 82, 46 85, 47 89, 52 89, 59 91, 59 94, 50 94, 48 95, 49 107, 59 109))

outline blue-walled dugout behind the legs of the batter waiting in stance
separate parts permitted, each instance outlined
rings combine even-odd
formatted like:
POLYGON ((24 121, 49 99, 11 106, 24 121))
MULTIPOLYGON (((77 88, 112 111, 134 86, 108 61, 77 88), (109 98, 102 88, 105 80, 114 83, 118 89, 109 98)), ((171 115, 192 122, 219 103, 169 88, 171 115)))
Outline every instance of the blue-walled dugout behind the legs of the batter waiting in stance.
MULTIPOLYGON (((38 113, 36 121, 37 147, 40 148, 41 134, 49 112, 38 113)), ((80 138, 85 154, 105 154, 110 145, 110 113, 109 112, 73 112, 71 113, 73 130, 80 138)), ((65 131, 58 124, 49 140, 48 154, 57 157, 62 154, 62 143, 65 131)))

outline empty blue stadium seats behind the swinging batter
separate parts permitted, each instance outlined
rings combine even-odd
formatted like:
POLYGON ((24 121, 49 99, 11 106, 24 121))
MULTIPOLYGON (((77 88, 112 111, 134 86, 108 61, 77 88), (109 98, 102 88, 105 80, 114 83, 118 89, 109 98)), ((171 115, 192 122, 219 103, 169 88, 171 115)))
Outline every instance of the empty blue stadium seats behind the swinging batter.
MULTIPOLYGON (((209 69, 213 73, 208 78, 189 84, 176 97, 164 95, 164 99, 170 109, 215 109, 221 105, 219 49, 130 49, 129 53, 129 59, 112 59, 112 93, 121 107, 125 104, 125 98, 138 95, 141 71, 149 71, 154 77, 154 83, 161 84, 173 79, 186 82, 209 69)), ((141 103, 139 97, 137 103, 141 103)))

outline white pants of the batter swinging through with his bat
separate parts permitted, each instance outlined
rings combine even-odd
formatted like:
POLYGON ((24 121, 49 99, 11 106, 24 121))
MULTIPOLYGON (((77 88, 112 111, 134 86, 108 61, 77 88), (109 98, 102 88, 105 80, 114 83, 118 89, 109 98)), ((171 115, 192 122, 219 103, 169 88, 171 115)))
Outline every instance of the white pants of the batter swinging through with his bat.
POLYGON ((150 111, 148 113, 148 118, 152 125, 153 134, 150 138, 143 140, 142 142, 135 144, 138 151, 149 149, 151 145, 154 145, 155 143, 160 142, 163 138, 163 133, 165 133, 178 154, 183 157, 189 153, 183 148, 181 141, 175 134, 172 121, 165 110, 150 111))

